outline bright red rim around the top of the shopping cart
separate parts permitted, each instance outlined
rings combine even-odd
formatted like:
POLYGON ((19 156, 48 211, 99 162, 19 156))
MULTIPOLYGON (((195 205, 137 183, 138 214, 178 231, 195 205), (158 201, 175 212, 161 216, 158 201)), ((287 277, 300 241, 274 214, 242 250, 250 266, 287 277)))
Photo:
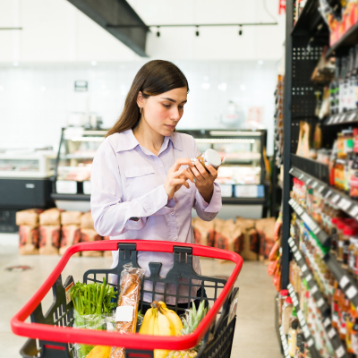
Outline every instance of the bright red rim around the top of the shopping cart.
POLYGON ((190 349, 200 343, 201 339, 205 336, 211 324, 214 322, 218 311, 223 306, 226 298, 234 287, 234 283, 236 278, 239 276, 242 267, 243 258, 235 252, 191 243, 172 243, 149 240, 108 240, 105 242, 77 243, 65 251, 64 256, 55 266, 49 277, 47 277, 44 284, 39 287, 38 291, 30 298, 29 302, 26 303, 15 316, 13 316, 13 319, 11 320, 11 327, 13 333, 18 336, 35 339, 38 338, 47 342, 81 343, 87 345, 115 345, 132 349, 140 348, 143 350, 190 349), (192 334, 187 336, 154 337, 141 335, 141 338, 139 338, 137 337, 137 334, 120 335, 116 332, 57 327, 47 324, 25 322, 25 320, 30 317, 30 314, 36 309, 38 304, 41 303, 47 292, 52 289, 56 279, 60 276, 67 262, 74 253, 79 251, 116 251, 118 250, 119 243, 135 243, 137 251, 173 252, 175 246, 191 247, 192 255, 194 256, 230 260, 234 262, 235 267, 231 276, 228 278, 226 285, 223 287, 221 293, 217 297, 217 300, 205 318, 200 322, 198 328, 195 329, 192 334))

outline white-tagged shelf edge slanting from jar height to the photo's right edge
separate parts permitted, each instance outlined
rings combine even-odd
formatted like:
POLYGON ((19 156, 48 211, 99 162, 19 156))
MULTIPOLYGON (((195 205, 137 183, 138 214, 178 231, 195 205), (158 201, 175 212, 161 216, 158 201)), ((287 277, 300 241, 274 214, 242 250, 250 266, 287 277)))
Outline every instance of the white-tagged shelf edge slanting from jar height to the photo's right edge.
MULTIPOLYGON (((318 163, 319 164, 319 163, 318 163)), ((315 176, 308 175, 301 169, 292 167, 290 174, 300 179, 303 183, 310 185, 311 188, 316 189, 324 196, 326 200, 329 200, 350 217, 354 217, 358 220, 358 200, 354 200, 335 188, 332 188, 327 183, 318 180, 315 176)))

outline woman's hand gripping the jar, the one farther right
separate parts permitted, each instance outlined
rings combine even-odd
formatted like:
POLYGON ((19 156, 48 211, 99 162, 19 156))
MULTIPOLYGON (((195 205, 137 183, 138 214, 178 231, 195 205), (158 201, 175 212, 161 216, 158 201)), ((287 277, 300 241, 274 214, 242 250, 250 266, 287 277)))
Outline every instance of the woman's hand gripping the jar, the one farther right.
MULTIPOLYGON (((221 158, 221 161, 223 158, 221 158)), ((214 192, 214 181, 217 179, 217 169, 214 166, 207 165, 210 174, 201 165, 200 161, 195 158, 194 166, 189 167, 187 170, 194 176, 194 183, 198 192, 206 202, 210 202, 214 192)))

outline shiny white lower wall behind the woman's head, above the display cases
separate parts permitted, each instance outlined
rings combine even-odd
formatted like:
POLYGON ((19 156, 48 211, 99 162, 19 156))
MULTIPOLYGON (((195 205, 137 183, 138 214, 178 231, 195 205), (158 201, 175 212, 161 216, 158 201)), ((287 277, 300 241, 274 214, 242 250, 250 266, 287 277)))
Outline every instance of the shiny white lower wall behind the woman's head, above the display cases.
MULTIPOLYGON (((0 65, 0 148, 53 146, 72 112, 84 112, 86 94, 74 81, 89 81, 90 112, 101 115, 104 127, 115 123, 135 73, 144 61, 121 64, 0 65)), ((176 61, 186 75, 190 93, 180 128, 223 128, 230 100, 247 115, 262 107, 272 152, 274 61, 176 61), (202 84, 209 83, 209 89, 202 84), (220 84, 226 83, 226 90, 220 84)), ((225 87, 225 86, 224 86, 225 87)))

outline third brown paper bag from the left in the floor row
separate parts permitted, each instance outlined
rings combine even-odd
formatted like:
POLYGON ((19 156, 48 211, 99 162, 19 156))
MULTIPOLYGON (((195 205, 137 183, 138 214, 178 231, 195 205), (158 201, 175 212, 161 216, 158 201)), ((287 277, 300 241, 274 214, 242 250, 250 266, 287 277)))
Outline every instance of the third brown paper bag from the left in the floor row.
MULTIPOLYGON (((60 255, 72 246, 74 243, 81 241, 81 211, 64 211, 61 213, 62 223, 62 237, 60 255)), ((75 253, 73 256, 80 256, 80 252, 75 253)))

